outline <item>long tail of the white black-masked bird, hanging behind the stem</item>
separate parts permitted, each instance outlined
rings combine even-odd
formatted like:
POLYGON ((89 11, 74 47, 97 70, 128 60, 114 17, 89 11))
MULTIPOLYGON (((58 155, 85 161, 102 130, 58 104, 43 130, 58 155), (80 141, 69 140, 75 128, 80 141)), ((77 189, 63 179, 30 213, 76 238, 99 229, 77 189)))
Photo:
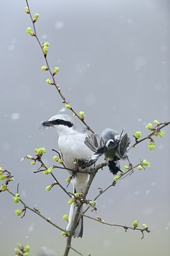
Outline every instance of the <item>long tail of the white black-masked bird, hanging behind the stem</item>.
MULTIPOLYGON (((76 204, 74 204, 74 203, 71 204, 71 207, 70 207, 70 210, 69 210, 69 223, 66 227, 67 231, 71 230, 71 225, 72 225, 72 223, 74 221, 74 218, 75 218, 76 209, 77 209, 76 204)), ((80 209, 80 213, 82 213, 82 212, 83 212, 83 205, 81 206, 81 209, 80 209)), ((81 216, 78 219, 78 222, 76 224, 76 228, 74 230, 73 236, 74 236, 74 238, 83 236, 83 216, 81 216)))

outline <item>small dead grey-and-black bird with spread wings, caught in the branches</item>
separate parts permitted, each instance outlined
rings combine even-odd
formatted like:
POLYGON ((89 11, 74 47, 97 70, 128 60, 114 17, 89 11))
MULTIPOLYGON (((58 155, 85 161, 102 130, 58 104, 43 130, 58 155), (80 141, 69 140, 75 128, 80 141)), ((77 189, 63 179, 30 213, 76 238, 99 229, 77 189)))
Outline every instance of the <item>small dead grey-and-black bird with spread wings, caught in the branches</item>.
POLYGON ((118 160, 127 157, 131 143, 127 133, 123 135, 123 132, 124 130, 122 130, 121 134, 118 134, 118 132, 112 129, 105 129, 101 136, 98 134, 90 134, 90 136, 87 136, 85 138, 85 145, 87 145, 94 154, 89 159, 78 159, 77 166, 87 168, 96 163, 97 159, 104 154, 105 160, 108 161, 110 172, 113 173, 113 175, 117 174, 117 172, 121 172, 118 160))

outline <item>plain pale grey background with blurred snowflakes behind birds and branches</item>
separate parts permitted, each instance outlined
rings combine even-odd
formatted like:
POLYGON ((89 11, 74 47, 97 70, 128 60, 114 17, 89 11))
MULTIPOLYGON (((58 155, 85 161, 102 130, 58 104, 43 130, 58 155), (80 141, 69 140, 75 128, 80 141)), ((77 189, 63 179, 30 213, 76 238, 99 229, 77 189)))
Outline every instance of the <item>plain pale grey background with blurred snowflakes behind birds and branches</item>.
MULTIPOLYGON (((85 111, 96 132, 125 128, 132 138, 135 131, 148 134, 145 125, 155 118, 169 120, 168 0, 29 3, 32 13, 40 14, 36 26, 41 42, 50 42, 50 66, 60 67, 57 82, 62 92, 77 111, 85 111)), ((41 72, 44 60, 35 38, 25 33, 31 21, 24 8, 24 1, 1 3, 0 165, 15 176, 12 191, 19 182, 28 205, 66 227, 62 220, 69 211, 66 195, 59 188, 47 193, 51 177, 35 175, 38 166, 20 161, 26 154, 34 155, 34 148, 45 146, 45 163, 53 164, 51 149, 57 149, 57 136, 52 129, 42 132, 38 124, 64 108, 55 88, 45 83, 49 75, 41 72)), ((169 127, 165 131, 165 138, 155 138, 153 152, 145 142, 129 154, 132 163, 148 159, 152 167, 121 180, 97 202, 97 215, 103 220, 126 225, 138 220, 152 232, 141 240, 139 232, 125 233, 85 219, 83 239, 73 241, 84 255, 170 255, 169 127)), ((125 163, 121 164, 123 168, 125 163)), ((66 186, 67 173, 57 170, 56 176, 66 186)), ((112 180, 107 168, 100 171, 89 198, 112 180)), ((1 255, 14 255, 17 242, 30 244, 31 255, 42 250, 62 255, 66 241, 59 230, 32 212, 20 220, 15 209, 21 206, 8 193, 0 196, 1 255)))

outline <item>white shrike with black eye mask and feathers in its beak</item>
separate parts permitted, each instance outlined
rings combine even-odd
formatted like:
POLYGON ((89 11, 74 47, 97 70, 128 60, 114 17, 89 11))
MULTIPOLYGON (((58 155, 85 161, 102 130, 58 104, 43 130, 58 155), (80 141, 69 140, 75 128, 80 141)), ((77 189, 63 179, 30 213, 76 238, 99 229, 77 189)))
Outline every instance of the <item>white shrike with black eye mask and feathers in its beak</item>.
MULTIPOLYGON (((74 170, 75 159, 89 159, 92 157, 92 150, 87 147, 84 143, 87 133, 78 122, 76 118, 73 118, 69 115, 55 115, 52 116, 49 120, 41 123, 43 127, 53 127, 58 135, 58 145, 60 156, 66 168, 74 170)), ((86 168, 89 170, 92 168, 92 164, 86 168)), ((80 169, 81 170, 81 169, 80 169)), ((72 175, 72 172, 69 171, 72 175)), ((87 183, 89 181, 89 173, 76 173, 71 179, 73 184, 73 193, 84 193, 87 188, 87 183)), ((76 212, 76 204, 71 204, 69 211, 69 221, 66 230, 71 229, 71 225, 74 220, 76 212)), ((83 212, 83 207, 81 207, 81 212, 83 212)), ((74 237, 83 236, 83 217, 81 216, 78 220, 76 228, 74 230, 74 237)))

